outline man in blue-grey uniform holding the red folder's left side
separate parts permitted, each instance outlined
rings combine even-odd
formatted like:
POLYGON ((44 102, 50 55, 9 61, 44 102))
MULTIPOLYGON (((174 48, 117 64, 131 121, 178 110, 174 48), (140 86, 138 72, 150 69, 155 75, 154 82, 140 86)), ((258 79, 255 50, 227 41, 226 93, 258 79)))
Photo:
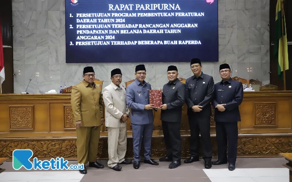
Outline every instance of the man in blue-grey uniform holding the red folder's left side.
POLYGON ((140 150, 143 141, 144 145, 144 163, 150 165, 159 165, 150 157, 151 140, 153 132, 153 104, 149 104, 149 90, 151 85, 146 83, 146 68, 144 65, 138 65, 135 68, 136 79, 129 84, 126 89, 127 105, 131 108, 131 124, 133 132, 134 164, 133 167, 140 167, 140 150))

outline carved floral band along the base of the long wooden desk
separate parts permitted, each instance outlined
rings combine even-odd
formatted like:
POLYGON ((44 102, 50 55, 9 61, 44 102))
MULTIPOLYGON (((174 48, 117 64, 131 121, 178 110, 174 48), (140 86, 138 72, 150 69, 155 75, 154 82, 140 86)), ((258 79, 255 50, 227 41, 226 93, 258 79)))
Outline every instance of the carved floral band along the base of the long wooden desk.
MULTIPOLYGON (((201 139, 201 138, 200 138, 201 139)), ((202 142, 200 142, 202 144, 202 142)), ((216 137, 211 137, 212 155, 218 156, 216 137)), ((108 159, 108 138, 101 137, 99 140, 97 159, 108 159)), ((10 139, 0 140, 0 157, 12 159, 15 149, 31 149, 33 157, 38 159, 51 159, 63 157, 65 160, 77 159, 76 139, 10 139)), ((200 145, 200 156, 202 148, 200 145)), ((143 158, 143 148, 141 157, 143 158)), ((237 157, 278 157, 278 153, 292 152, 292 135, 271 136, 239 136, 237 157)), ((167 151, 163 136, 153 136, 151 144, 151 157, 158 159, 164 157, 167 151)), ((182 136, 182 158, 190 156, 189 136, 182 136)), ((133 158, 133 140, 128 138, 126 158, 133 158)))

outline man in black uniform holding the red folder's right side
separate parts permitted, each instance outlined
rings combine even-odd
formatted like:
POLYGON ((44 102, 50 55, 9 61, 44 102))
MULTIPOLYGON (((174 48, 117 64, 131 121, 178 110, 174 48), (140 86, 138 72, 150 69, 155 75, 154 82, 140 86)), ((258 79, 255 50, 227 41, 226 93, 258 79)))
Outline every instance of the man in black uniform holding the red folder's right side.
POLYGON ((176 66, 168 66, 168 83, 163 86, 163 105, 161 107, 162 129, 167 155, 159 161, 172 162, 168 168, 173 169, 181 165, 182 141, 181 120, 182 107, 186 97, 186 86, 178 79, 176 66))

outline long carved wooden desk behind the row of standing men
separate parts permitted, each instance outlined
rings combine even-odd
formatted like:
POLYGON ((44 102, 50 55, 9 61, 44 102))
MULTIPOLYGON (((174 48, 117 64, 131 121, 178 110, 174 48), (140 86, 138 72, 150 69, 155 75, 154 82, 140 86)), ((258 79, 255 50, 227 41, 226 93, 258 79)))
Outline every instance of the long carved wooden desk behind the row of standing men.
MULTIPOLYGON (((14 149, 32 149, 33 157, 76 159, 76 129, 73 125, 71 94, 0 94, 0 157, 12 158, 14 149)), ((213 108, 213 107, 212 107, 213 108)), ((292 91, 244 92, 239 107, 238 157, 280 157, 292 152, 292 91)), ((166 154, 160 111, 154 112, 152 158, 166 154)), ((211 116, 213 156, 217 156, 216 123, 211 116)), ((127 121, 127 157, 132 153, 132 129, 127 121)), ((189 123, 183 106, 182 157, 189 153, 189 123)), ((103 127, 97 157, 108 159, 108 131, 103 127)), ((142 154, 143 156, 143 154, 142 154)))

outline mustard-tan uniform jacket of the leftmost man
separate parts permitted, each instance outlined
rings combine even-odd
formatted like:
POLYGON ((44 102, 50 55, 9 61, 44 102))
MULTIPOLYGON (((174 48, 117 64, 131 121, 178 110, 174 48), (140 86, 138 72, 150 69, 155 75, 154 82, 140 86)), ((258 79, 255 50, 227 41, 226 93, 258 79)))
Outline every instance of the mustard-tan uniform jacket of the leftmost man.
POLYGON ((84 80, 73 86, 71 92, 71 105, 76 121, 81 120, 82 126, 100 126, 101 118, 104 117, 104 105, 102 102, 100 86, 93 86, 84 80))

